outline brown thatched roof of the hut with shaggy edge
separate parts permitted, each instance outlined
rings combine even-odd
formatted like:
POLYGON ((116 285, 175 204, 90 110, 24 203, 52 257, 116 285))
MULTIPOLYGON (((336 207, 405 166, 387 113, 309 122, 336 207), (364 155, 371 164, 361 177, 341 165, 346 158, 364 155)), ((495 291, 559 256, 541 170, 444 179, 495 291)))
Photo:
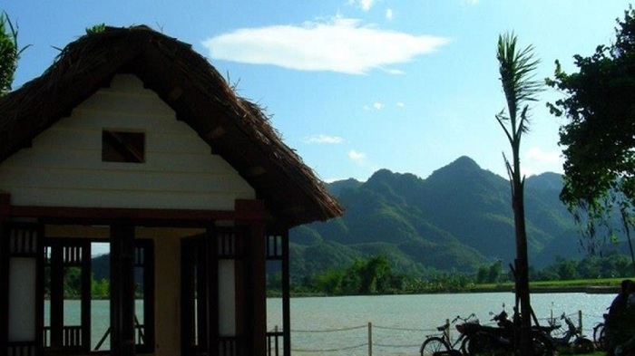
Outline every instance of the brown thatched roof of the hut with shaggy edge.
POLYGON ((239 98, 190 44, 147 26, 106 27, 68 44, 42 76, 0 98, 0 162, 111 82, 132 73, 239 171, 272 216, 296 226, 343 208, 285 145, 259 106, 239 98))

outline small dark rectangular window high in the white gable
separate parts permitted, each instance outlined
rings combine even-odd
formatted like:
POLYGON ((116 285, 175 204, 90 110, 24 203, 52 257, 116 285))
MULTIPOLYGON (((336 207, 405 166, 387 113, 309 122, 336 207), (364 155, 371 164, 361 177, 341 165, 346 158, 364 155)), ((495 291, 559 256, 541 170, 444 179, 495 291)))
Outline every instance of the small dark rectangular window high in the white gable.
POLYGON ((145 133, 102 131, 103 162, 145 162, 145 133))

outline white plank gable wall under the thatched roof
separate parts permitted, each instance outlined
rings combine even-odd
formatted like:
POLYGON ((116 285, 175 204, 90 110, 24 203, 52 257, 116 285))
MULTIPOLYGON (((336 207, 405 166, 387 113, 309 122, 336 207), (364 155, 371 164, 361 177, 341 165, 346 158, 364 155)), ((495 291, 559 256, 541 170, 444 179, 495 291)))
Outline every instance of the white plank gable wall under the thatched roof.
POLYGON ((15 206, 232 210, 255 192, 134 75, 117 75, 70 117, 0 163, 15 206), (145 163, 102 161, 102 131, 145 133, 145 163))

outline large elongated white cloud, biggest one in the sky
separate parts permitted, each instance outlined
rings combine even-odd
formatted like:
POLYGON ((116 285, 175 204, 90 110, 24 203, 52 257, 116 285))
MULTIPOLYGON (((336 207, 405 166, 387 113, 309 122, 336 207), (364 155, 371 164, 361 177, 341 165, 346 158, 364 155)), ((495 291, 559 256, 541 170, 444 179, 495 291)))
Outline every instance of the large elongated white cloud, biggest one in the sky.
POLYGON ((272 64, 298 71, 365 74, 413 61, 449 42, 445 37, 382 30, 363 25, 358 19, 336 17, 302 25, 242 28, 202 44, 217 60, 272 64))

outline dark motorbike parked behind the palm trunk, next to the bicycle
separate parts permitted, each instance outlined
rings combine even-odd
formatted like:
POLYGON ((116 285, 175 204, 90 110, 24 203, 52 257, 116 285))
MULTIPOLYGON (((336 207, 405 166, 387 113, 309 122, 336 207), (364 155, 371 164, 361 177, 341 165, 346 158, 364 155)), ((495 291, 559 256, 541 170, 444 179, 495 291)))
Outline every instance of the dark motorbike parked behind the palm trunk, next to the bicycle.
MULTIPOLYGON (((493 314, 493 313, 491 313, 493 314)), ((518 316, 514 316, 517 318, 518 316)), ((516 349, 515 331, 516 323, 508 319, 507 313, 493 314, 492 322, 496 326, 470 323, 456 325, 457 330, 465 334, 464 354, 512 354, 516 349)), ((533 354, 537 356, 552 356, 553 345, 547 334, 539 328, 532 328, 533 354)))

